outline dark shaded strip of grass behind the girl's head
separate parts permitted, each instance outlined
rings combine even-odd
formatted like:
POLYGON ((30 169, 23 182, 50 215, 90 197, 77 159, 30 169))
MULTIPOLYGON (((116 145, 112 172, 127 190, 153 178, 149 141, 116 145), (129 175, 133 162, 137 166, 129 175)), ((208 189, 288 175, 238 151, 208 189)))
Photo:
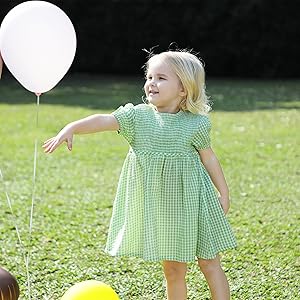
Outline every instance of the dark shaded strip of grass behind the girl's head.
MULTIPOLYGON (((7 72, 8 73, 8 72, 7 72)), ((0 81, 0 103, 35 103, 33 93, 25 90, 11 75, 0 81)), ((81 106, 114 110, 127 102, 142 102, 143 78, 89 76, 65 77, 53 90, 42 95, 45 104, 81 106)), ((251 111, 300 108, 300 80, 208 79, 207 92, 214 111, 251 111)))

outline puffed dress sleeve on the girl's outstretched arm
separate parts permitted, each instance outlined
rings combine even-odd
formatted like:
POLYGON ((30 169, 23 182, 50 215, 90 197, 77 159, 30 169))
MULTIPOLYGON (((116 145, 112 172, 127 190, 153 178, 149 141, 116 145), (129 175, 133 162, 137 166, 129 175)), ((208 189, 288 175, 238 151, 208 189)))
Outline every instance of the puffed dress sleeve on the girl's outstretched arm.
POLYGON ((112 112, 112 115, 119 123, 120 129, 118 132, 131 144, 135 133, 135 106, 132 103, 120 106, 112 112))

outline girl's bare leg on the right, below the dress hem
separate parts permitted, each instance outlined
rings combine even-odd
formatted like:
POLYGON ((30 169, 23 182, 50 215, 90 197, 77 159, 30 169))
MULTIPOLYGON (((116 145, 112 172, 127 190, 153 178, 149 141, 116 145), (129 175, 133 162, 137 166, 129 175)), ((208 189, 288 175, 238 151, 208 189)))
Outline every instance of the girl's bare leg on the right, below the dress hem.
POLYGON ((212 299, 230 300, 229 284, 219 255, 214 259, 198 259, 198 265, 206 278, 212 299))

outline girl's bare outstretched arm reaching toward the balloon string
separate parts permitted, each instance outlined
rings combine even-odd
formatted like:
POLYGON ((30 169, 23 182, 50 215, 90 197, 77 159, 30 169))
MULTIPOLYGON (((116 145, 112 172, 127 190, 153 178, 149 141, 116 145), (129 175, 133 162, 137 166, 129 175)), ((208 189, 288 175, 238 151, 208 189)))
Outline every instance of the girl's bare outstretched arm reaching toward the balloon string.
POLYGON ((96 114, 67 124, 56 136, 44 142, 45 153, 52 153, 63 142, 72 150, 73 135, 99 131, 119 130, 119 123, 113 115, 96 114))

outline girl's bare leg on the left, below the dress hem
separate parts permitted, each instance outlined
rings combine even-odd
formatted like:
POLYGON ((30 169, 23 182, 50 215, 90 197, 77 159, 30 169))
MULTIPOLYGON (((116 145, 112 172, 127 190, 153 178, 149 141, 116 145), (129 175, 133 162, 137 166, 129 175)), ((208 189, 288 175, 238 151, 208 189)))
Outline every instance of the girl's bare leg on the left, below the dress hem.
POLYGON ((185 275, 187 264, 177 261, 163 261, 163 269, 167 281, 168 300, 186 300, 187 289, 185 275))

